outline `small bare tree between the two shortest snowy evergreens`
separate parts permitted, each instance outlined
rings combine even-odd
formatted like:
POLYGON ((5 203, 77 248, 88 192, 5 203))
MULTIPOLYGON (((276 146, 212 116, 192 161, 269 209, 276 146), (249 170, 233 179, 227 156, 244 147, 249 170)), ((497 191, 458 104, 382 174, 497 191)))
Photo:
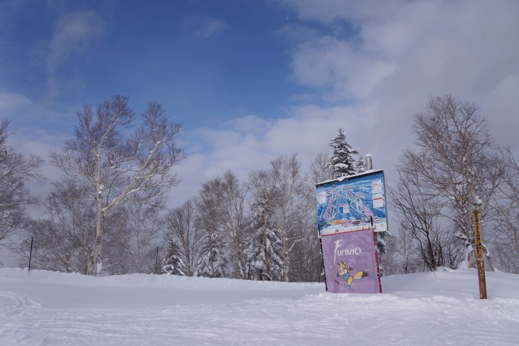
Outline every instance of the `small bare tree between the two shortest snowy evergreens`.
POLYGON ((203 232, 196 227, 196 205, 188 200, 166 215, 166 242, 175 242, 186 276, 196 274, 203 245, 203 232))

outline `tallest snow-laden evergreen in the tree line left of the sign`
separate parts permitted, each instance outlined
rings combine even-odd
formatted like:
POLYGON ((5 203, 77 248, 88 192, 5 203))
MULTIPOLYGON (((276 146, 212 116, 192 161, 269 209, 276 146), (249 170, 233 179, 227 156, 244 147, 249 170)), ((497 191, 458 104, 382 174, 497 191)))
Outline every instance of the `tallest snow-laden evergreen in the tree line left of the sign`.
POLYGON ((272 202, 265 190, 250 207, 250 237, 247 239, 247 276, 253 280, 279 280, 282 275, 283 242, 272 218, 272 202))

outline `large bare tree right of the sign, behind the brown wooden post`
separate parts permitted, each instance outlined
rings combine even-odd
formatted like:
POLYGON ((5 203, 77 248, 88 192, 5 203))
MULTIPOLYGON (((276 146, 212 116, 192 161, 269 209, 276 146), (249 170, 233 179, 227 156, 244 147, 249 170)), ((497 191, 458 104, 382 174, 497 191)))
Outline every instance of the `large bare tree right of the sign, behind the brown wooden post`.
MULTIPOLYGON (((465 259, 471 259, 472 211, 481 208, 483 222, 489 218, 506 171, 503 157, 476 105, 451 95, 429 98, 413 131, 416 148, 403 151, 399 171, 406 178, 416 177, 422 198, 442 198, 441 214, 454 223, 456 237, 466 245, 465 259)), ((493 269, 485 244, 483 251, 493 269)))

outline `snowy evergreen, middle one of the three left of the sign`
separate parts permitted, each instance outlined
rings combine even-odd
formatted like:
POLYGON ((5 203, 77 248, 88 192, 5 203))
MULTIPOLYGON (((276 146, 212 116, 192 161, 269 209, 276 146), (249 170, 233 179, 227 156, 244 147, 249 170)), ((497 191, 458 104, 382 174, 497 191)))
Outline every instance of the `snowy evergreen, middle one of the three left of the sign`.
POLYGON ((208 232, 197 263, 198 276, 223 278, 228 265, 225 257, 225 244, 222 237, 214 230, 208 232))

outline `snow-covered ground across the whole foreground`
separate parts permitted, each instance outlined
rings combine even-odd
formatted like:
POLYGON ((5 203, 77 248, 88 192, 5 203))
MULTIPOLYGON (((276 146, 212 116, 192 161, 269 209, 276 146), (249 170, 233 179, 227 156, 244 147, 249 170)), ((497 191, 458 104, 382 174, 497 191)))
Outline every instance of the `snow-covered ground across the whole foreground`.
POLYGON ((519 345, 519 276, 382 278, 382 294, 319 283, 0 269, 0 345, 519 345))

